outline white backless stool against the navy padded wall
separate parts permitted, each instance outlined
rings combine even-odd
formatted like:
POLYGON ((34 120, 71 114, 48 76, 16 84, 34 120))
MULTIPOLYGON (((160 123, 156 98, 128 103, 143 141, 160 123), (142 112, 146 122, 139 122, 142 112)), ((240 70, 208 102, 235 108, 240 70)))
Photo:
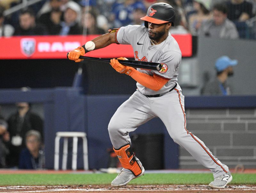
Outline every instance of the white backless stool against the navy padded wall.
POLYGON ((73 151, 72 151, 72 170, 76 170, 77 162, 77 142, 78 137, 83 139, 83 152, 84 152, 84 170, 88 170, 88 147, 85 132, 57 132, 55 137, 55 154, 54 154, 54 169, 59 170, 59 156, 60 156, 60 137, 64 137, 63 143, 63 156, 62 156, 62 169, 67 169, 68 160, 68 137, 73 137, 73 151))

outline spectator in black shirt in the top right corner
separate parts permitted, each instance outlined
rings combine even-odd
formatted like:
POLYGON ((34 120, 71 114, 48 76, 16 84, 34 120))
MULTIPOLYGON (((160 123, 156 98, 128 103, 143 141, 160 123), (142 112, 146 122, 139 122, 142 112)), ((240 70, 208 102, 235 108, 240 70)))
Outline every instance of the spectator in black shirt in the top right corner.
POLYGON ((246 21, 252 18, 252 4, 245 0, 229 0, 228 19, 231 21, 246 21))

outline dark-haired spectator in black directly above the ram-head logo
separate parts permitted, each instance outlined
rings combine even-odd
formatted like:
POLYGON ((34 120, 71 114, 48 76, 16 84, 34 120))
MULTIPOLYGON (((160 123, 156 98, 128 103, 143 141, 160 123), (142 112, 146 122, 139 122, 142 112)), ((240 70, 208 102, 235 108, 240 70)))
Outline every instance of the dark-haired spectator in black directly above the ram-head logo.
POLYGON ((47 35, 46 27, 36 23, 35 13, 27 8, 19 14, 20 26, 15 29, 14 35, 47 35))

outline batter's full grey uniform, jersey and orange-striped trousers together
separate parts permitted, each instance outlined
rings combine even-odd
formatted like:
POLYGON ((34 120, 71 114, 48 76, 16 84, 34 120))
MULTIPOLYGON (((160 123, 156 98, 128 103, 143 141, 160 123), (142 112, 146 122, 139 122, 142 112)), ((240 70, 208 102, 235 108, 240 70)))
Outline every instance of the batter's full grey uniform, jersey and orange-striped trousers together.
POLYGON ((131 144, 130 132, 150 119, 159 117, 173 141, 209 168, 214 178, 226 174, 228 167, 215 158, 204 142, 186 128, 184 96, 177 83, 181 53, 175 39, 169 33, 162 43, 151 46, 148 29, 135 25, 121 27, 116 33, 116 41, 131 44, 136 60, 164 63, 163 71, 137 70, 151 76, 161 76, 169 81, 157 92, 137 83, 137 91, 116 110, 108 124, 109 137, 114 148, 131 144), (170 91, 176 83, 176 88, 170 91), (163 93, 165 94, 159 97, 146 96, 163 93))

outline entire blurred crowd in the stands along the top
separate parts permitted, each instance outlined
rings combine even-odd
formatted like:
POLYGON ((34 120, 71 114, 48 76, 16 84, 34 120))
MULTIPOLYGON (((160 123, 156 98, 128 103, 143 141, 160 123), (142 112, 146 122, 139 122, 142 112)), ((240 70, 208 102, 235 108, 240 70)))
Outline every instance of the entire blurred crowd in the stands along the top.
POLYGON ((23 0, 1 0, 0 36, 104 34, 144 25, 140 18, 156 2, 176 10, 172 34, 256 39, 256 0, 42 0, 10 14, 23 0))

